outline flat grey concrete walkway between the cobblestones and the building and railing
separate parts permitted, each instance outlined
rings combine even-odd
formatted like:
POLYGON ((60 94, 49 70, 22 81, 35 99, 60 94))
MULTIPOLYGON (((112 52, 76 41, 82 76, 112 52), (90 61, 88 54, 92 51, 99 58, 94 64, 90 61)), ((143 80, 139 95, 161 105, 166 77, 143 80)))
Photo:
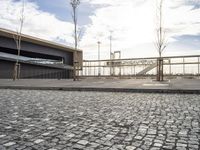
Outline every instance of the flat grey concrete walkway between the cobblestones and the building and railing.
POLYGON ((36 89, 107 92, 200 93, 200 79, 172 79, 157 82, 151 79, 0 79, 1 89, 36 89))

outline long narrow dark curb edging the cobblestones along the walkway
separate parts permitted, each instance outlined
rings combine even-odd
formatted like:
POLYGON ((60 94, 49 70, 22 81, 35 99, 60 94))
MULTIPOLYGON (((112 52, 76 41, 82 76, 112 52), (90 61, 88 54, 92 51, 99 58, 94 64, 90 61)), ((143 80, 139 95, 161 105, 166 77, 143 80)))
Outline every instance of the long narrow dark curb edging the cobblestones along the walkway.
POLYGON ((55 90, 55 91, 94 91, 94 92, 126 92, 126 93, 171 93, 171 94, 200 94, 195 89, 142 89, 142 88, 97 88, 97 87, 29 87, 29 86, 0 86, 0 89, 16 90, 55 90))

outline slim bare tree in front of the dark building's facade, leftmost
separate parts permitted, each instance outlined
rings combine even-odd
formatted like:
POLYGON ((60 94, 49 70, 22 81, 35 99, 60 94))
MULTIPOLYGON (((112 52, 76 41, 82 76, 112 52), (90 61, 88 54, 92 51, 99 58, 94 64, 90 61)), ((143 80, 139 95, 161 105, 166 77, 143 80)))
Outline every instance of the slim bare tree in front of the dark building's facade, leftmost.
POLYGON ((20 63, 19 63, 19 56, 20 56, 20 51, 21 51, 21 39, 22 39, 22 29, 24 25, 24 9, 25 9, 25 1, 22 1, 22 8, 20 11, 20 18, 19 18, 19 28, 16 29, 16 34, 13 35, 13 38, 15 40, 16 46, 17 46, 17 59, 16 63, 14 66, 14 74, 13 74, 13 80, 19 79, 20 78, 20 63))

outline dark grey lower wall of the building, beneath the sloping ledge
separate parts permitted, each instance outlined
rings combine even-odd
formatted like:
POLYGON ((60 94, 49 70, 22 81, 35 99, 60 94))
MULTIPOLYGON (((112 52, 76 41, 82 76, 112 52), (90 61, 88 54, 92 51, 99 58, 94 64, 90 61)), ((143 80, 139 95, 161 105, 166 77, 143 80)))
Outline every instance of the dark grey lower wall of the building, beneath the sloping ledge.
MULTIPOLYGON (((12 79, 15 62, 0 60, 0 78, 12 79)), ((22 79, 66 79, 72 78, 72 72, 45 66, 21 63, 22 79)))

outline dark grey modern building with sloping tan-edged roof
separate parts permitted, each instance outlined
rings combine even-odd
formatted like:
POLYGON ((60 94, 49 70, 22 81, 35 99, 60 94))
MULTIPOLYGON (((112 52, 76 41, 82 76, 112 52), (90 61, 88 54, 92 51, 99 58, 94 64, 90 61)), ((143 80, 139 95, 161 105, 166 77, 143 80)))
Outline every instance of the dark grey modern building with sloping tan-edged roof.
MULTIPOLYGON (((36 37, 22 35, 20 56, 14 36, 17 33, 0 28, 0 78, 13 78, 14 65, 20 63, 20 78, 72 78, 74 48, 36 37)), ((83 55, 76 50, 78 68, 83 55)))

